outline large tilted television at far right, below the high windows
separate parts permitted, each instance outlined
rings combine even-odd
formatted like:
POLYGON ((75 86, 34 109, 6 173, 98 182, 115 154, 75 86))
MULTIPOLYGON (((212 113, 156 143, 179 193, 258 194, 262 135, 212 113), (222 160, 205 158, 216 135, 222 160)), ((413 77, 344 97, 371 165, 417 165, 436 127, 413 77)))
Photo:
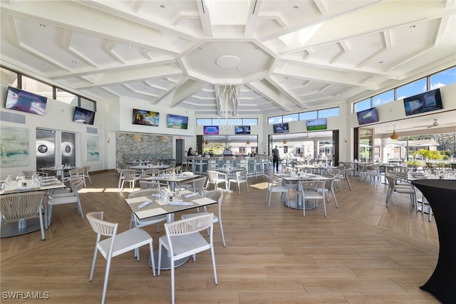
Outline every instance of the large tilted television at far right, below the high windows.
POLYGON ((415 115, 443 108, 440 88, 404 98, 405 115, 415 115))

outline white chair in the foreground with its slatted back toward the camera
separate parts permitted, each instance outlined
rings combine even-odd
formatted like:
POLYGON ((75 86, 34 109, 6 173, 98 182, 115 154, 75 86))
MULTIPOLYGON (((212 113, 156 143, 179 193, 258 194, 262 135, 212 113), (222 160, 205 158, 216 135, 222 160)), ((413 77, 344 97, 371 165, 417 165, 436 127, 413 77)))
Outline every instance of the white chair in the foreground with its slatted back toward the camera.
MULTIPOLYGON (((214 255, 214 213, 204 213, 202 216, 186 218, 185 220, 165 223, 166 235, 160 237, 158 248, 158 275, 160 275, 162 248, 170 253, 171 260, 171 303, 175 303, 175 260, 193 256, 204 250, 211 250, 214 281, 217 285, 217 269, 214 255), (209 229, 209 242, 199 231, 209 229)), ((165 253, 166 254, 166 253, 165 253)))

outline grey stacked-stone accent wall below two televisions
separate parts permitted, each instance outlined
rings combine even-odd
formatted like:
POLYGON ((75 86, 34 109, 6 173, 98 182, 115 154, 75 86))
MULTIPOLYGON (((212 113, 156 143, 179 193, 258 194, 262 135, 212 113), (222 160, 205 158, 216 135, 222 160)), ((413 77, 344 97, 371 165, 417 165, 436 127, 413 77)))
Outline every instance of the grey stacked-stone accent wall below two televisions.
POLYGON ((157 134, 115 133, 115 162, 167 161, 172 158, 172 137, 157 134))

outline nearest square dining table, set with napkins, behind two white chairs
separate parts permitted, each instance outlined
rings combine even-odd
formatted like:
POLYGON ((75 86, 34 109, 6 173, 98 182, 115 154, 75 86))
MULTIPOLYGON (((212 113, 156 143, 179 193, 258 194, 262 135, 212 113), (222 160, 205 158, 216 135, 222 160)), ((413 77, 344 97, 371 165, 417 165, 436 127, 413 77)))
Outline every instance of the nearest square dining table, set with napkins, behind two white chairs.
MULTIPOLYGON (((139 198, 126 198, 125 202, 131 208, 131 211, 135 213, 140 220, 145 220, 154 216, 166 215, 167 223, 174 221, 174 214, 180 211, 186 211, 193 208, 205 207, 217 203, 212 198, 207 198, 198 193, 193 193, 189 190, 178 191, 180 193, 180 200, 177 201, 175 198, 170 201, 169 198, 161 199, 157 196, 141 196, 139 198), (149 201, 150 204, 142 208, 138 208, 142 203, 149 201), (181 203, 187 203, 186 205, 181 203)), ((153 256, 148 258, 147 263, 152 267, 152 258, 155 262, 155 267, 158 265, 158 250, 155 250, 153 256)), ((190 257, 182 258, 175 261, 175 267, 178 267, 189 260, 190 257)), ((170 269, 171 259, 169 253, 162 255, 161 269, 170 269)))

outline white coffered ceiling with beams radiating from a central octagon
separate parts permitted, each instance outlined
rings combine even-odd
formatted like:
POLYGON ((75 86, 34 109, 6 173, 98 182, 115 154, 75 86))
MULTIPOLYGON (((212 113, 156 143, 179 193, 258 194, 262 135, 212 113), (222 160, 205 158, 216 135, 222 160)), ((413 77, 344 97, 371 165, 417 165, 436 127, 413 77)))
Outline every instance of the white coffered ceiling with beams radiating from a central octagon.
POLYGON ((455 12, 452 0, 2 0, 1 64, 199 116, 217 116, 232 86, 238 116, 280 115, 454 65, 455 12))

